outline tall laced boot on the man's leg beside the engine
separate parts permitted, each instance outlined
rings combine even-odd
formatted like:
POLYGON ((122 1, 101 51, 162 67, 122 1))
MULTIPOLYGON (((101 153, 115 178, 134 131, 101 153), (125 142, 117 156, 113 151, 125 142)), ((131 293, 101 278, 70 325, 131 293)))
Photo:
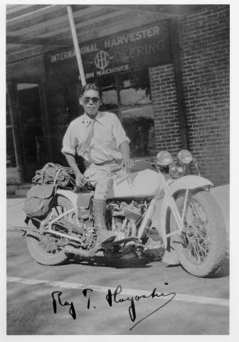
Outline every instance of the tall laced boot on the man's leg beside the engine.
POLYGON ((97 229, 97 244, 102 242, 109 242, 115 239, 115 234, 107 230, 105 224, 105 199, 93 200, 93 212, 95 216, 95 227, 97 229))

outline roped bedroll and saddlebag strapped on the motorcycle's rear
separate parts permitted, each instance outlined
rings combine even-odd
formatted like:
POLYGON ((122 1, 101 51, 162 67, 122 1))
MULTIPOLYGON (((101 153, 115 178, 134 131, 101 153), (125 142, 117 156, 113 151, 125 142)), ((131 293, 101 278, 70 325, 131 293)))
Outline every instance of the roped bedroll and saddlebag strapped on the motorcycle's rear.
POLYGON ((36 171, 33 186, 26 194, 23 210, 30 217, 46 217, 51 210, 56 187, 73 187, 75 175, 70 167, 48 162, 36 171))

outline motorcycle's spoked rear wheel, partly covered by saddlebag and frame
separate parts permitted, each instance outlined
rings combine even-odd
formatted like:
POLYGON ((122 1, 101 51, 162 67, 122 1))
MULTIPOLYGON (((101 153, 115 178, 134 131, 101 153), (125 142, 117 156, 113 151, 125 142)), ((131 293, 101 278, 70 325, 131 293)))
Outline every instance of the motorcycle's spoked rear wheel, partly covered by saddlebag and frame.
MULTIPOLYGON (((70 204, 68 199, 58 196, 55 199, 55 204, 53 204, 51 212, 48 214, 48 219, 51 220, 60 216, 63 212, 71 209, 71 207, 72 204, 70 204)), ((74 213, 70 213, 63 217, 63 219, 67 219, 74 223, 75 215, 74 213)), ((31 227, 39 228, 39 222, 33 219, 29 220, 28 226, 29 225, 31 225, 31 227)), ((67 233, 66 229, 64 227, 60 227, 60 225, 55 225, 54 227, 57 232, 67 233)), ((39 233, 29 232, 26 237, 26 242, 29 252, 39 264, 58 265, 68 259, 63 250, 65 244, 68 243, 68 239, 53 236, 51 234, 43 234, 40 229, 39 233)))

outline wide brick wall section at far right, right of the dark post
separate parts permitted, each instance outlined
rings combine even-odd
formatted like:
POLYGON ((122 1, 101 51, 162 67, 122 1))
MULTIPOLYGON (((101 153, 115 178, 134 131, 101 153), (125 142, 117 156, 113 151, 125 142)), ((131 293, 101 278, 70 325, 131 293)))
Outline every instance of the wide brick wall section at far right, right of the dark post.
POLYGON ((188 147, 204 177, 229 182, 229 6, 181 22, 188 147))

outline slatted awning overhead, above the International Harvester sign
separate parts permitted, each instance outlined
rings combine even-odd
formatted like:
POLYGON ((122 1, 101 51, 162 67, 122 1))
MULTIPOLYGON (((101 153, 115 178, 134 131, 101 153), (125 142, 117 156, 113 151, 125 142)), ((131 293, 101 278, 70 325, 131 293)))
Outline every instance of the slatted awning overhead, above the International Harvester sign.
MULTIPOLYGON (((211 5, 71 5, 80 44, 211 5)), ((7 5, 6 63, 73 46, 67 5, 7 5)))

